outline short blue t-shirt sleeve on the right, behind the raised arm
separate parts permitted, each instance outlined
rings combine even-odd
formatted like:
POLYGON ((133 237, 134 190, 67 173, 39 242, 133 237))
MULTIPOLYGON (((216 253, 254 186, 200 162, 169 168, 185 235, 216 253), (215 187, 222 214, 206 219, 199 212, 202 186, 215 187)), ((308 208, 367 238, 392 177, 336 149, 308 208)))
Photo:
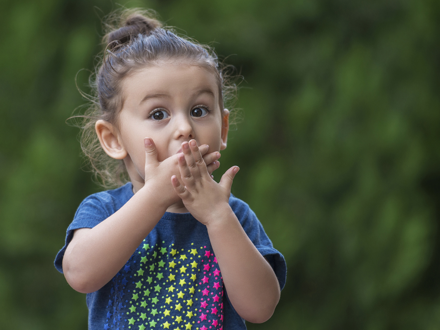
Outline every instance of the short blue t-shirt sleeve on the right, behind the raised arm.
POLYGON ((282 289, 286 284, 287 266, 283 255, 274 249, 271 240, 264 232, 264 228, 258 220, 255 213, 242 200, 234 197, 231 194, 229 198, 229 205, 237 216, 244 231, 249 239, 253 242, 255 247, 260 251, 261 255, 268 260, 279 282, 279 287, 282 289))

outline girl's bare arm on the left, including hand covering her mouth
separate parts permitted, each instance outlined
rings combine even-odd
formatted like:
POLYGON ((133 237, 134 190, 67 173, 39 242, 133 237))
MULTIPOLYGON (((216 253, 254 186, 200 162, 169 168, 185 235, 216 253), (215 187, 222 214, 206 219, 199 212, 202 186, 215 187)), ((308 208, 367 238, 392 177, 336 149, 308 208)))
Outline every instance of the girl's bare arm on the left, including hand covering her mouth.
MULTIPOLYGON (((204 146, 204 152, 208 150, 204 146)), ((206 154, 213 171, 218 153, 206 154)), ((117 212, 93 228, 77 229, 66 248, 62 268, 73 289, 90 293, 102 288, 125 265, 136 248, 161 219, 166 209, 179 200, 169 177, 178 172, 177 155, 157 160, 154 143, 146 145, 148 180, 117 212)))

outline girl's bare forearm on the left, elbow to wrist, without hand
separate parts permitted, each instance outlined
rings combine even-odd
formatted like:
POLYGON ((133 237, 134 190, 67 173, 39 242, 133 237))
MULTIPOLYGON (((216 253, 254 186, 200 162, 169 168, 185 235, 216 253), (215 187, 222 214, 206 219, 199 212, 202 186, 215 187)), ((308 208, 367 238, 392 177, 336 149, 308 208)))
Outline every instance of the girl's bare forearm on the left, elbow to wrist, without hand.
POLYGON ((99 290, 124 266, 166 211, 153 196, 154 191, 144 187, 106 220, 75 231, 62 261, 73 289, 99 290))

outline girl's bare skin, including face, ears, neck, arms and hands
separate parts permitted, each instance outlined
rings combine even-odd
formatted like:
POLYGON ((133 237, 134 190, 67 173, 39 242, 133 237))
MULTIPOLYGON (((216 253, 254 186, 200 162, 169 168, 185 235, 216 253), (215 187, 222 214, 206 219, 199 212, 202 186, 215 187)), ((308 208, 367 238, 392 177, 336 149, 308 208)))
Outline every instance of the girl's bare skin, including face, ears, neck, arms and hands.
POLYGON ((74 232, 63 258, 67 282, 83 293, 99 290, 165 211, 191 212, 208 230, 235 310, 249 322, 266 321, 279 283, 228 204, 238 167, 220 183, 210 175, 227 145, 229 116, 215 77, 188 63, 160 63, 127 77, 123 96, 119 127, 97 121, 95 128, 105 152, 125 161, 135 194, 94 228, 74 232))

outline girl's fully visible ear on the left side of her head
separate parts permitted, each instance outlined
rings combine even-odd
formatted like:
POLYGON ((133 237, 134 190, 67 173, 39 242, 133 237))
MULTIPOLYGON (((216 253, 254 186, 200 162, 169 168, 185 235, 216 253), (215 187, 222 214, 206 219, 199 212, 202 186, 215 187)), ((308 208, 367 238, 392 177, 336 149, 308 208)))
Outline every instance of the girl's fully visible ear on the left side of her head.
POLYGON ((100 119, 96 121, 95 131, 98 135, 101 147, 103 147, 106 154, 114 159, 124 159, 127 157, 127 150, 119 141, 116 130, 108 121, 100 119))

